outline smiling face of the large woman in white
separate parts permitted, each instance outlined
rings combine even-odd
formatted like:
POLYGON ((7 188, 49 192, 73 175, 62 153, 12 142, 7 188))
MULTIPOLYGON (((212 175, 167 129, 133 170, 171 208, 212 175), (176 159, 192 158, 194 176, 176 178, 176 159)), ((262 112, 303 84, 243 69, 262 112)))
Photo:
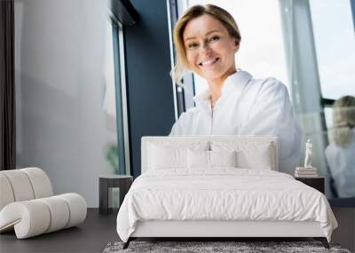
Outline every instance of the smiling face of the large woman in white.
POLYGON ((239 43, 221 21, 203 14, 186 24, 183 38, 188 68, 208 82, 223 81, 236 71, 239 43))

